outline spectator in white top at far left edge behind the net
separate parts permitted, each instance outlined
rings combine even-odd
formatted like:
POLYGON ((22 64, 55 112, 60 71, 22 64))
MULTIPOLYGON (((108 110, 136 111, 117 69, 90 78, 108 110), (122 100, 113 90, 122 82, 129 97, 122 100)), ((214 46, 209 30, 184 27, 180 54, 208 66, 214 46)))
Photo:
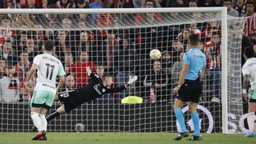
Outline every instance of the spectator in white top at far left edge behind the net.
POLYGON ((18 102, 19 81, 13 76, 13 67, 7 67, 7 75, 0 79, 0 102, 18 102))

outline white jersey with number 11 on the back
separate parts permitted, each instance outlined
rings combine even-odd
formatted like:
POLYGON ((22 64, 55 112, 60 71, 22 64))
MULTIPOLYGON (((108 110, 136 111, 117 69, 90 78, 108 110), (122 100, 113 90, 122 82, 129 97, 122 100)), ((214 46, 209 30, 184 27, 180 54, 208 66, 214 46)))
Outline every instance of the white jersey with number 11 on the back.
POLYGON ((65 74, 62 62, 51 54, 38 54, 33 63, 38 65, 38 78, 34 90, 49 90, 55 93, 57 76, 65 74))

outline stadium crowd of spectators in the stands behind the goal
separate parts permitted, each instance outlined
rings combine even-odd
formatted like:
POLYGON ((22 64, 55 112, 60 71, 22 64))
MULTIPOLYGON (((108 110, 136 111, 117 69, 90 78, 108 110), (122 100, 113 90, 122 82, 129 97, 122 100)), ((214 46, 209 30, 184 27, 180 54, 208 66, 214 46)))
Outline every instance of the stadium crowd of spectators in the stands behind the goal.
MULTIPOLYGON (((249 0, 0 0, 0 8, 153 8, 153 7, 204 7, 226 6, 234 17, 248 17, 242 34, 242 48, 256 49, 256 1, 249 0)), ((66 86, 63 90, 74 90, 88 82, 86 66, 97 72, 114 75, 115 86, 127 82, 129 76, 138 75, 139 81, 121 94, 104 95, 101 102, 119 102, 126 94, 139 95, 148 102, 173 100, 172 87, 178 82, 182 68, 182 55, 186 51, 189 34, 201 38, 201 50, 206 54, 206 97, 203 101, 220 102, 220 49, 221 28, 219 22, 193 22, 189 25, 152 26, 118 30, 69 30, 74 21, 68 17, 47 15, 42 24, 59 25, 62 30, 47 31, 38 25, 37 16, 31 14, 1 14, 0 29, 0 102, 27 102, 33 94, 34 82, 24 86, 27 72, 37 54, 42 53, 45 40, 55 42, 55 56, 66 70, 66 86), (61 19, 61 21, 58 21, 61 19), (34 27, 37 30, 11 30, 14 24, 34 27), (152 62, 150 50, 162 51, 162 58, 152 62)), ((112 26, 111 14, 74 15, 80 29, 86 26, 112 26), (88 18, 90 17, 90 18, 88 18), (82 21, 83 20, 83 21, 82 21), (88 20, 88 22, 86 21, 88 20), (89 22, 90 20, 90 22, 89 22)), ((162 14, 137 14, 135 24, 162 21, 162 14)), ((255 54, 256 56, 256 54, 255 54)), ((243 64, 244 60, 242 60, 243 64)))

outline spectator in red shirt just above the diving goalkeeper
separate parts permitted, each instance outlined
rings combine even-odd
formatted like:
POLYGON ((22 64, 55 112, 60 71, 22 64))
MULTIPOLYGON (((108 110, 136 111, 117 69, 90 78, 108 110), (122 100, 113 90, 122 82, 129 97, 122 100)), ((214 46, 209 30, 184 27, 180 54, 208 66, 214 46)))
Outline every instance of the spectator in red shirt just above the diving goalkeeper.
POLYGON ((89 54, 86 51, 80 52, 80 59, 78 62, 75 62, 71 68, 71 74, 74 76, 77 87, 85 86, 88 82, 88 75, 86 74, 86 66, 90 67, 90 70, 95 71, 96 66, 93 62, 89 61, 89 54))

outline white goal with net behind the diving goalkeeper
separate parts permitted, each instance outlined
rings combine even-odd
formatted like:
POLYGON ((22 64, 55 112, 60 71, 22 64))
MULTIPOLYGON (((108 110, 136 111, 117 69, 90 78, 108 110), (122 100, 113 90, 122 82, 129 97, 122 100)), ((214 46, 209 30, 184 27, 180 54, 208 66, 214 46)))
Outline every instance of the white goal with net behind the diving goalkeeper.
MULTIPOLYGON (((124 92, 104 94, 52 120, 49 131, 177 132, 172 89, 178 83, 187 39, 197 34, 199 48, 207 58, 198 106, 201 130, 241 132, 238 123, 242 116, 241 42, 245 19, 225 21, 224 10, 1 10, 0 131, 30 131, 33 126, 30 99, 36 76, 29 88, 24 86, 24 79, 33 58, 51 39, 56 47, 54 56, 66 70, 62 91, 86 86, 89 78, 85 66, 99 76, 103 72, 112 74, 113 87, 122 86, 133 75, 138 75, 138 82, 124 92), (150 59, 153 49, 160 50, 162 58, 150 59), (122 104, 127 96, 141 97, 143 102, 122 104)), ((50 113, 58 106, 54 102, 50 113)), ((187 108, 182 109, 186 126, 193 130, 187 108)))

